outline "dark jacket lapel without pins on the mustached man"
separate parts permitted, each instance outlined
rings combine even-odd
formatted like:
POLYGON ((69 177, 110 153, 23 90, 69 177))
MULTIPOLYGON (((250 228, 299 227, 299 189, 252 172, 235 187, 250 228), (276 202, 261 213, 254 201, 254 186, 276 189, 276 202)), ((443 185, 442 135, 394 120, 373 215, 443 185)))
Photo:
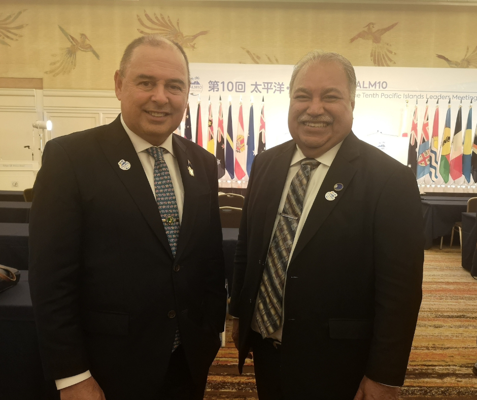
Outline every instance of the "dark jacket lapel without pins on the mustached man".
MULTIPOLYGON (((265 220, 263 224, 263 248, 262 254, 266 256, 268 251, 269 240, 273 234, 277 213, 281 212, 278 207, 282 198, 283 187, 287 180, 288 170, 290 169, 290 162, 295 152, 296 144, 290 141, 284 148, 283 152, 276 155, 268 164, 267 171, 262 176, 269 177, 268 181, 264 183, 263 197, 267 199, 268 204, 265 211, 265 220)), ((287 188, 288 189, 288 188, 287 188)))

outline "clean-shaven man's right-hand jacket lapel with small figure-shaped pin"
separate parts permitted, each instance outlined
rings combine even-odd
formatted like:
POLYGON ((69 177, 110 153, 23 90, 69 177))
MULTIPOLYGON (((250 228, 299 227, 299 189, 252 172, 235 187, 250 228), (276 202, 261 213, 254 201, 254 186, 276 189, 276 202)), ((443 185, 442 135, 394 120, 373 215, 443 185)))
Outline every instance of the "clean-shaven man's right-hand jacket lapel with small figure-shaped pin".
MULTIPOLYGON (((176 251, 176 259, 179 259, 186 249, 196 224, 197 206, 200 204, 198 199, 200 196, 210 195, 210 186, 205 171, 199 169, 199 165, 202 163, 194 156, 187 144, 183 143, 181 138, 177 135, 173 135, 172 143, 174 154, 179 165, 179 171, 181 172, 182 185, 184 186, 184 207, 176 251), (194 176, 190 174, 187 168, 189 161, 192 165, 194 176)), ((208 204, 210 205, 210 199, 208 204)), ((208 213, 209 210, 200 210, 200 212, 208 213)))

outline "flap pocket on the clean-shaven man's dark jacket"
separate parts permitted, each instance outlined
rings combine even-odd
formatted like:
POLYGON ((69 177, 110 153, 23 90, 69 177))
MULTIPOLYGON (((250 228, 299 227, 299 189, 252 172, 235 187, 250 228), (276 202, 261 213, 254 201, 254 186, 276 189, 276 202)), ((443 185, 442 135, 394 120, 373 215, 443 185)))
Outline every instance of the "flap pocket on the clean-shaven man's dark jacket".
POLYGON ((82 322, 93 334, 127 336, 129 330, 129 314, 86 310, 82 322))

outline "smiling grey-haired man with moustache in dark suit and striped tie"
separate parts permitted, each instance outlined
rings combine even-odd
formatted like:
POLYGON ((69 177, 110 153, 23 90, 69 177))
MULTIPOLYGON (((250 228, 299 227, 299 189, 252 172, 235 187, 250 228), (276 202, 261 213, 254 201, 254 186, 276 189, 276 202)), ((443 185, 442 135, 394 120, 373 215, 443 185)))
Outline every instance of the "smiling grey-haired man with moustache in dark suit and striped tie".
POLYGON ((397 399, 422 298, 410 169, 351 131, 356 77, 336 53, 295 65, 292 141, 255 157, 229 312, 260 400, 397 399))

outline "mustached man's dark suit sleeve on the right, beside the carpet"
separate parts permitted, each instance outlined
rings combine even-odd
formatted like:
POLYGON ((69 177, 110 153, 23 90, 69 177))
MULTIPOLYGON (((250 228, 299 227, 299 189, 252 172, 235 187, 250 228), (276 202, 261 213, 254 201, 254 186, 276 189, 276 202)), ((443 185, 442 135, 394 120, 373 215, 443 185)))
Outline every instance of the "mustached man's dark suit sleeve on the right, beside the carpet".
POLYGON ((398 169, 381 192, 373 249, 374 328, 365 375, 401 386, 421 306, 424 263, 421 201, 410 169, 398 169))

